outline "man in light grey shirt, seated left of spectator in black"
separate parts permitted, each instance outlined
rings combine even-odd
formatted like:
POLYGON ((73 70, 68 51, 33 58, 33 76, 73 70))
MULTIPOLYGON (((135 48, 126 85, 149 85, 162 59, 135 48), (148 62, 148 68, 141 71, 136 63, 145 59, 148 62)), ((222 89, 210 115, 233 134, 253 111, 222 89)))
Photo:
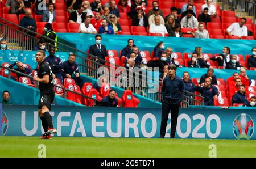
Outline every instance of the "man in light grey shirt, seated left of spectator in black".
POLYGON ((187 16, 181 19, 181 28, 198 28, 198 21, 192 14, 193 10, 187 10, 187 16))

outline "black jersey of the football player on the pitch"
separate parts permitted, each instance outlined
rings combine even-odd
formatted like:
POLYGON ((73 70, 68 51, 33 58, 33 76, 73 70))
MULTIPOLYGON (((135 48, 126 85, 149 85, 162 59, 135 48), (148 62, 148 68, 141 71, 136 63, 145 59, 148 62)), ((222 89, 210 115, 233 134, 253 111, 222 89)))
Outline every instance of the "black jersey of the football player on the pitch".
POLYGON ((44 75, 49 75, 49 83, 40 83, 39 89, 41 94, 54 94, 52 70, 49 64, 45 61, 41 62, 38 69, 38 77, 41 79, 44 75))

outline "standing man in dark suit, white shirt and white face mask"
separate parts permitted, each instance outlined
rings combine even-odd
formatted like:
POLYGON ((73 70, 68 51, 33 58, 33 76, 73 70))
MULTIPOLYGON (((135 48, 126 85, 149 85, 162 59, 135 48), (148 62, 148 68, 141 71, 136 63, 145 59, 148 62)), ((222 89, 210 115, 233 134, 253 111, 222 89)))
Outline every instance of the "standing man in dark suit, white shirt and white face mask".
POLYGON ((96 44, 91 45, 89 48, 89 54, 92 54, 98 58, 101 58, 101 60, 99 60, 98 58, 94 58, 94 60, 96 62, 99 62, 100 64, 105 64, 105 57, 108 56, 107 52, 106 52, 106 47, 105 45, 101 45, 101 35, 96 35, 95 36, 95 41, 96 44))

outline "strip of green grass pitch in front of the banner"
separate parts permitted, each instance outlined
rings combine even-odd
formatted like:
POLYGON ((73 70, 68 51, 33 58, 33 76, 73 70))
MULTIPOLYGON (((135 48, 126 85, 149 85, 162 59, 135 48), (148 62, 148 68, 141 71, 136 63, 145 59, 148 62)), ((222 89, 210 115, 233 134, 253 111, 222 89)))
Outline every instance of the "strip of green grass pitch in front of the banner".
POLYGON ((46 157, 209 157, 210 144, 217 157, 256 157, 255 140, 7 136, 0 137, 0 157, 38 157, 40 144, 46 157))

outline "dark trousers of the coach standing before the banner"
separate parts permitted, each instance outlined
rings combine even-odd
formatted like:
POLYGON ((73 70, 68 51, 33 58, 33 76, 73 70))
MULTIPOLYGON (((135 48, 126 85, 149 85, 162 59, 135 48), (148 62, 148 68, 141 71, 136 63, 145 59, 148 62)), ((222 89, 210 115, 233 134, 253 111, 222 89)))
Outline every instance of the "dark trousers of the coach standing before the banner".
POLYGON ((180 102, 169 98, 162 99, 162 120, 160 128, 160 138, 166 135, 166 125, 169 112, 171 111, 171 138, 175 137, 177 117, 179 116, 180 102))

